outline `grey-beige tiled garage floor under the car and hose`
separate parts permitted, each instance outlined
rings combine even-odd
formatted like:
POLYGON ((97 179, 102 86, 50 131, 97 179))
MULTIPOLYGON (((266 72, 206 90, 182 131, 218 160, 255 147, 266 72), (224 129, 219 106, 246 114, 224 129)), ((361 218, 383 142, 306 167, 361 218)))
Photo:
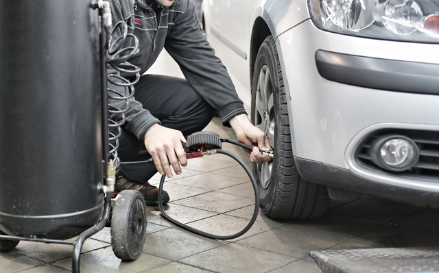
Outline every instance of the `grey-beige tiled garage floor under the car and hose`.
MULTIPOLYGON (((163 64, 165 70, 171 69, 163 64)), ((233 138, 218 118, 206 128, 233 138)), ((248 162, 241 148, 224 146, 248 162)), ((158 184, 156 176, 152 183, 158 184)), ((197 229, 228 235, 252 216, 252 187, 244 170, 222 155, 191 159, 180 176, 167 179, 167 213, 197 229)), ((439 249, 439 211, 381 199, 334 201, 321 218, 278 221, 260 213, 245 235, 216 241, 169 224, 158 207, 147 208, 147 236, 137 261, 112 253, 106 228, 86 240, 82 273, 100 272, 321 272, 310 250, 420 247, 439 249)), ((71 268, 71 246, 20 242, 0 253, 0 272, 62 273, 71 268)))

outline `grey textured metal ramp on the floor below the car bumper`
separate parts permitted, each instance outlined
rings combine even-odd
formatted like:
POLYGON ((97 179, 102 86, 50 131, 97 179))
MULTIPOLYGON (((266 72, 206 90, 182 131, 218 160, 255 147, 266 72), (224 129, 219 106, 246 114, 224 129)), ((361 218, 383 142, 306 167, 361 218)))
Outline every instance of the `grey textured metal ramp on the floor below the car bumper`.
POLYGON ((439 273, 439 250, 371 248, 311 251, 323 273, 439 273))

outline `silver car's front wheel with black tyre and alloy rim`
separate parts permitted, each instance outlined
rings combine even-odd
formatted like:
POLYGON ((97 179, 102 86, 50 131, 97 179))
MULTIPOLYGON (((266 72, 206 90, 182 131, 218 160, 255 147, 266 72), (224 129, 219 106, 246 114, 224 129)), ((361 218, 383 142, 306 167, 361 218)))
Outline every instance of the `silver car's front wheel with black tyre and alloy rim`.
POLYGON ((251 106, 253 124, 265 132, 274 148, 273 161, 253 164, 261 209, 278 219, 322 216, 331 199, 325 185, 302 179, 296 169, 281 64, 272 36, 265 38, 259 48, 251 106))

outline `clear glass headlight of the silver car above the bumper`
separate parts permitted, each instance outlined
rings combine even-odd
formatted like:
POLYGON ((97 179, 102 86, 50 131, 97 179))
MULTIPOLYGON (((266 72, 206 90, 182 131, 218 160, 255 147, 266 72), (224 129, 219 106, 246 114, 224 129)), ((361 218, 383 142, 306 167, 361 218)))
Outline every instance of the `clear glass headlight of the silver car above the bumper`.
POLYGON ((439 43, 439 0, 309 0, 323 30, 353 36, 439 43))

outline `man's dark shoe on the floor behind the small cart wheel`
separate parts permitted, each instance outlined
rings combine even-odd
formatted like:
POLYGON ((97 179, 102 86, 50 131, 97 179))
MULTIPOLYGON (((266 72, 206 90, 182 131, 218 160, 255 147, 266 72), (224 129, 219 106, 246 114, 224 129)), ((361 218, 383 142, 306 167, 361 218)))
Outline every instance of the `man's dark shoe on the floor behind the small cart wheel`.
MULTIPOLYGON (((158 187, 148 182, 139 183, 128 180, 121 173, 116 174, 115 191, 111 193, 111 197, 115 198, 119 192, 123 190, 137 190, 145 198, 145 204, 148 206, 158 206, 158 187)), ((162 191, 162 203, 165 205, 169 202, 169 195, 162 191)))

